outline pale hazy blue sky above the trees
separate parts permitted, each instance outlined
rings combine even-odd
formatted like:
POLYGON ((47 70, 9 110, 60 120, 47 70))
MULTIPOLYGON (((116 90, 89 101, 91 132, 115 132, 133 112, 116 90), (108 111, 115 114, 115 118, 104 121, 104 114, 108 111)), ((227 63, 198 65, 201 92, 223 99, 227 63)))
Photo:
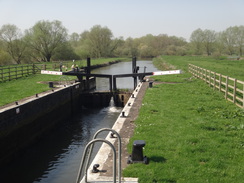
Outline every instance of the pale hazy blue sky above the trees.
POLYGON ((59 20, 69 34, 101 25, 125 39, 167 34, 188 40, 198 28, 244 25, 244 0, 0 0, 0 27, 25 30, 39 20, 59 20))

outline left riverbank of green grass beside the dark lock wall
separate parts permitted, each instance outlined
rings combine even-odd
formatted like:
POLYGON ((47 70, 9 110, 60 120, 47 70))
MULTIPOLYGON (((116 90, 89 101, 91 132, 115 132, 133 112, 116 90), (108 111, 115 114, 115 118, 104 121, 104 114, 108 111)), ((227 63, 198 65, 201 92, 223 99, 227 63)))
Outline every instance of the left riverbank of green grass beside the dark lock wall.
MULTIPOLYGON (((91 68, 95 69, 121 62, 120 60, 111 61, 111 59, 107 59, 107 62, 104 60, 106 59, 102 59, 103 63, 101 64, 99 64, 99 60, 95 60, 94 63, 91 61, 91 68)), ((32 95, 50 90, 49 82, 72 84, 75 80, 77 80, 77 77, 75 76, 35 74, 17 80, 0 83, 0 108, 3 109, 6 107, 5 105, 12 102, 23 101, 32 95)))

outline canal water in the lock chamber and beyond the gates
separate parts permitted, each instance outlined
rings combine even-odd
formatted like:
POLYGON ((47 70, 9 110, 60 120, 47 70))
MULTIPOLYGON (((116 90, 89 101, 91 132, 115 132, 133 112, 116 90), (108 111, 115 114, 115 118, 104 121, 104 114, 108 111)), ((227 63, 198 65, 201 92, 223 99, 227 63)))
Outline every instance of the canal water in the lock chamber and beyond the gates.
MULTIPOLYGON (((152 61, 137 61, 139 72, 153 72, 157 69, 152 61)), ((131 62, 121 62, 92 70, 97 74, 126 74, 132 72, 131 62)), ((96 78, 96 90, 108 90, 109 81, 96 78)), ((119 78, 117 87, 133 89, 132 78, 119 78)), ((25 150, 17 161, 1 170, 1 182, 23 183, 73 183, 76 180, 85 145, 101 128, 111 128, 122 108, 110 106, 88 109, 80 107, 74 116, 63 121, 25 150)), ((106 134, 103 134, 104 136, 106 134)))

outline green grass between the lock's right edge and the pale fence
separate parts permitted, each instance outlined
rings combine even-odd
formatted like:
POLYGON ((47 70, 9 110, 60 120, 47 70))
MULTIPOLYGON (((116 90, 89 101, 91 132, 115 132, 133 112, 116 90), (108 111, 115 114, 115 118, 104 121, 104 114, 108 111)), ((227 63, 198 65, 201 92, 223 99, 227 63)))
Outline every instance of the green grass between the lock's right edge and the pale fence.
MULTIPOLYGON (((163 59, 186 68, 184 59, 163 59)), ((134 140, 145 140, 150 163, 130 165, 124 176, 139 177, 140 183, 243 182, 243 109, 190 77, 155 77, 171 84, 148 88, 128 145, 131 152, 134 140)))

